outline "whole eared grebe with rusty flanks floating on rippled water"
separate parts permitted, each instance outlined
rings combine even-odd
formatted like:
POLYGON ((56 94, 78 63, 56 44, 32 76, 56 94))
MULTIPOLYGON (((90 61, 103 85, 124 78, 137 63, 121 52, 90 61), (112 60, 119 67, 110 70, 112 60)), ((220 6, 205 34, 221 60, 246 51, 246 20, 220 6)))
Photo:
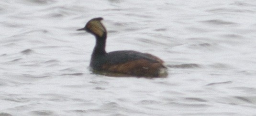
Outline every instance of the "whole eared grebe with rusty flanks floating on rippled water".
POLYGON ((148 53, 132 50, 105 51, 107 30, 100 22, 103 18, 94 18, 82 29, 96 37, 90 68, 94 72, 116 73, 135 77, 167 77, 164 61, 148 53))

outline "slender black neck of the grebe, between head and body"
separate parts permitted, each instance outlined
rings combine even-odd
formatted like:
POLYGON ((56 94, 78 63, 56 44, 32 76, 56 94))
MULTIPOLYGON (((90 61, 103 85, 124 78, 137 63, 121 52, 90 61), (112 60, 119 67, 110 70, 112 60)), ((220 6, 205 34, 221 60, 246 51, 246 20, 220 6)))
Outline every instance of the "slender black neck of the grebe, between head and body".
POLYGON ((106 51, 105 51, 106 39, 107 39, 106 34, 104 34, 103 37, 96 36, 96 45, 93 49, 92 57, 102 56, 106 54, 106 51))

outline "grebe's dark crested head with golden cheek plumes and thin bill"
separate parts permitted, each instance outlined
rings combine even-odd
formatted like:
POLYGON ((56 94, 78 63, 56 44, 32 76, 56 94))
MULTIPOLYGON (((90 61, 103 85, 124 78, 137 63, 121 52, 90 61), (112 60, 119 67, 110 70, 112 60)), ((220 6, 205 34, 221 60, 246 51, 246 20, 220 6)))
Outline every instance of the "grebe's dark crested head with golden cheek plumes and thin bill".
POLYGON ((84 28, 77 29, 77 30, 85 30, 85 31, 95 35, 96 37, 103 37, 107 33, 106 33, 105 27, 100 22, 102 19, 103 18, 101 18, 101 17, 91 19, 91 20, 88 21, 88 23, 85 25, 84 28))

